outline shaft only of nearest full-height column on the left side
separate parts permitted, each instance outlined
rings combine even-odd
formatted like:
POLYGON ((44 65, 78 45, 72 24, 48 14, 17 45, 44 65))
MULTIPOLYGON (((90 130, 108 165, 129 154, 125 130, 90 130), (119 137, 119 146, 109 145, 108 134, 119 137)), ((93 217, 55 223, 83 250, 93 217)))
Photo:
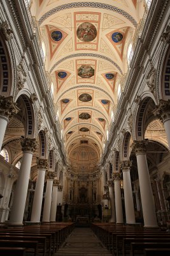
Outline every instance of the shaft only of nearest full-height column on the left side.
POLYGON ((24 152, 10 214, 10 223, 13 225, 22 225, 31 171, 31 162, 32 152, 24 152))

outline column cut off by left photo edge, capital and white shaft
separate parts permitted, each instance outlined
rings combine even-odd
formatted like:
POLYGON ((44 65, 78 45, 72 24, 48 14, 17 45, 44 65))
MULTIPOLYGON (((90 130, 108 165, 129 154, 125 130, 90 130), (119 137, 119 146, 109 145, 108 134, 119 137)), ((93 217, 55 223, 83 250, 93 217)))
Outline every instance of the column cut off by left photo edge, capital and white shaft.
POLYGON ((13 102, 13 97, 4 97, 0 95, 0 151, 3 145, 4 133, 8 124, 9 118, 17 114, 19 109, 17 103, 13 102))

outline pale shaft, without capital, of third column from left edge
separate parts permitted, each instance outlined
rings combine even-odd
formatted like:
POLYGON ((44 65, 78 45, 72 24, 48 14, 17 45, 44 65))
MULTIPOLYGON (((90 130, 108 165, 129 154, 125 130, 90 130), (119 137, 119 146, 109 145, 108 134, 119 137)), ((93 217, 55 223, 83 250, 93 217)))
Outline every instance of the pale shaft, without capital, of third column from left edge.
POLYGON ((45 182, 45 170, 38 170, 38 177, 36 180, 36 189, 34 193, 34 200, 32 204, 31 221, 40 222, 41 206, 43 202, 43 188, 45 182))

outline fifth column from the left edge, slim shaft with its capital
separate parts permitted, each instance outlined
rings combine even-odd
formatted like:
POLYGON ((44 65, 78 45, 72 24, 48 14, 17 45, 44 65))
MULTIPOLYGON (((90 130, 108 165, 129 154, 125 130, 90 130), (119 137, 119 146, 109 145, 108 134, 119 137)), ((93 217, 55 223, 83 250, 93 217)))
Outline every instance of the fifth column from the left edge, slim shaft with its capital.
POLYGON ((50 221, 56 220, 56 212, 57 212, 57 193, 58 193, 58 185, 60 184, 60 180, 53 180, 53 191, 52 191, 52 205, 50 211, 50 221))

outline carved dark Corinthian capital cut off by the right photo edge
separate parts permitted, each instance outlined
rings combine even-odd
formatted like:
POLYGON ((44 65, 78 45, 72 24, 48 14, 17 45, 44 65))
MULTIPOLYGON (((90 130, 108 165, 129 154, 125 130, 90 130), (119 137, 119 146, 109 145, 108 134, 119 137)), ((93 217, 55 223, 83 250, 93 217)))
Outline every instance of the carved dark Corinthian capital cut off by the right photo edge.
POLYGON ((162 122, 165 122, 170 118, 170 100, 160 100, 159 106, 156 106, 152 113, 160 118, 162 122))

